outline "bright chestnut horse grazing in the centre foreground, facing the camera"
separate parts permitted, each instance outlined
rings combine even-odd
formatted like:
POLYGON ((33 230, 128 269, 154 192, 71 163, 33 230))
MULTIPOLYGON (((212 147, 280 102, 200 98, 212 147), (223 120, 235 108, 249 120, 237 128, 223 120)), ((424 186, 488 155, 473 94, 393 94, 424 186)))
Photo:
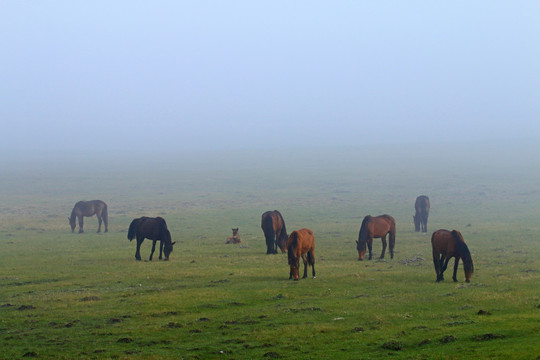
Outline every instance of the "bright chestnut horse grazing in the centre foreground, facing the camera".
POLYGON ((307 278, 307 266, 311 265, 313 278, 315 279, 315 236, 309 229, 300 229, 293 231, 287 241, 287 250, 289 257, 289 280, 294 278, 298 280, 298 271, 300 268, 300 258, 304 260, 304 276, 307 278))

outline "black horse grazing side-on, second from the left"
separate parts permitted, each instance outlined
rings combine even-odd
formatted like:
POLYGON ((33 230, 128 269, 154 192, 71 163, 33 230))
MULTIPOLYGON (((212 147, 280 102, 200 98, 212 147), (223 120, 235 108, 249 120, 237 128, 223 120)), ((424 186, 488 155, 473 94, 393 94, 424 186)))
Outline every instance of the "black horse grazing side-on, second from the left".
POLYGON ((173 245, 175 242, 171 242, 171 233, 167 229, 167 223, 162 217, 140 217, 133 219, 129 225, 128 236, 129 241, 137 238, 137 251, 135 252, 135 259, 141 260, 141 244, 144 239, 153 240, 152 252, 150 253, 150 261, 156 250, 156 241, 159 240, 159 260, 162 259, 162 253, 165 253, 165 261, 169 260, 169 255, 172 253, 173 245))

